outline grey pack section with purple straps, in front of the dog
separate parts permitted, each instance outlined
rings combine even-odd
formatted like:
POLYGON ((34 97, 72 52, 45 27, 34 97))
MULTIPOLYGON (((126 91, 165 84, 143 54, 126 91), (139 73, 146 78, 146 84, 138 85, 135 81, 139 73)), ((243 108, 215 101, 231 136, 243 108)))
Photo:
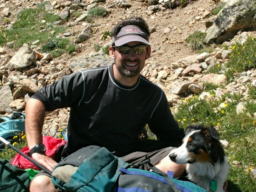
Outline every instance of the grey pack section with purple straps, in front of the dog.
POLYGON ((168 179, 165 174, 158 173, 155 169, 147 171, 122 167, 120 171, 121 174, 114 185, 113 192, 207 192, 190 181, 174 179, 173 172, 170 171, 167 174, 168 179), (174 183, 175 186, 171 183, 174 183))

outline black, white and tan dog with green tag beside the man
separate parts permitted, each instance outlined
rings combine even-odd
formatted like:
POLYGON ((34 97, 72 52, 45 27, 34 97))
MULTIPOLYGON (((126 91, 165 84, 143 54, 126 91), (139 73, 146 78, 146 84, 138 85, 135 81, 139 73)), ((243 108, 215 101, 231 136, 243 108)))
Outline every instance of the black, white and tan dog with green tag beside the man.
POLYGON ((177 164, 186 164, 187 178, 207 191, 223 192, 229 165, 214 126, 191 124, 184 130, 183 144, 169 154, 177 164))

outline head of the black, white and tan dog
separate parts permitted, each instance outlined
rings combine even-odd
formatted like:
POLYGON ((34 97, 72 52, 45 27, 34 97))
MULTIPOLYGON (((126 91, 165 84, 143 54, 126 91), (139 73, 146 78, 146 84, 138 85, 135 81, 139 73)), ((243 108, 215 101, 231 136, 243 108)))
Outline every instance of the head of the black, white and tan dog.
POLYGON ((224 161, 224 150, 218 138, 220 137, 214 126, 201 124, 189 125, 185 129, 183 144, 174 149, 169 157, 173 162, 196 163, 224 161))

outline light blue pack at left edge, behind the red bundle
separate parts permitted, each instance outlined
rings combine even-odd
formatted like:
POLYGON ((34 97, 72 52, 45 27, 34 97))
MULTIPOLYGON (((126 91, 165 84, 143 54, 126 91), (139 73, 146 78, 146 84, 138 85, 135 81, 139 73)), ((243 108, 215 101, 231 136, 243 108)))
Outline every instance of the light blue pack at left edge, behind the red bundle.
MULTIPOLYGON (((10 143, 16 141, 13 137, 25 132, 25 114, 14 112, 11 117, 0 117, 0 136, 10 143)), ((0 141, 0 149, 5 148, 5 144, 0 141)))

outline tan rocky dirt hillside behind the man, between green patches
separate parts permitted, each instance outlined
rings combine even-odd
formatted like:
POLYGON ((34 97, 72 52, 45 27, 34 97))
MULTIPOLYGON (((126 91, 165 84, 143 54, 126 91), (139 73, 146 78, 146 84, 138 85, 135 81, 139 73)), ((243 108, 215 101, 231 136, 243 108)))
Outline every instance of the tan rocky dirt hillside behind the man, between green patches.
MULTIPOLYGON (((19 11, 33 8, 38 3, 27 0, 0 0, 0 19, 8 18, 12 24, 19 11)), ((29 96, 64 75, 81 68, 112 63, 113 60, 102 50, 96 53, 94 45, 98 43, 101 46, 108 46, 110 38, 104 40, 102 35, 110 31, 119 20, 130 16, 142 16, 148 21, 152 54, 142 74, 163 88, 171 107, 177 106, 182 98, 191 94, 198 94, 203 99, 212 97, 203 92, 203 82, 221 85, 227 82, 227 77, 224 74, 205 75, 204 71, 215 64, 226 62, 231 52, 229 46, 233 42, 244 41, 249 35, 255 35, 255 31, 239 32, 234 39, 224 42, 225 46, 229 47, 228 50, 216 46, 212 53, 193 52, 185 40, 197 30, 205 32, 208 29, 209 26, 206 24, 216 19, 216 16, 211 14, 216 5, 213 0, 194 0, 186 7, 169 9, 166 8, 165 2, 152 5, 152 2, 144 0, 49 1, 47 11, 60 15, 60 18, 63 18, 60 19, 63 21, 62 25, 67 26, 66 33, 59 34, 60 38, 69 38, 76 42, 79 48, 72 55, 63 54, 53 58, 50 54, 40 53, 40 42, 29 42, 17 51, 8 48, 8 43, 0 47, 0 114, 3 116, 13 111, 23 111, 29 96), (102 6, 110 14, 106 18, 95 19, 93 24, 69 17, 70 13, 76 10, 82 9, 86 13, 94 6, 102 6), (86 28, 90 31, 89 39, 78 42, 79 35, 86 28)), ((11 24, 0 22, 0 29, 10 28, 11 24)), ((240 92, 246 98, 247 83, 256 86, 256 71, 238 74, 233 83, 218 89, 215 97, 231 91, 240 92)), ((55 135, 60 128, 65 128, 68 114, 69 109, 49 112, 45 118, 44 132, 55 135)))

